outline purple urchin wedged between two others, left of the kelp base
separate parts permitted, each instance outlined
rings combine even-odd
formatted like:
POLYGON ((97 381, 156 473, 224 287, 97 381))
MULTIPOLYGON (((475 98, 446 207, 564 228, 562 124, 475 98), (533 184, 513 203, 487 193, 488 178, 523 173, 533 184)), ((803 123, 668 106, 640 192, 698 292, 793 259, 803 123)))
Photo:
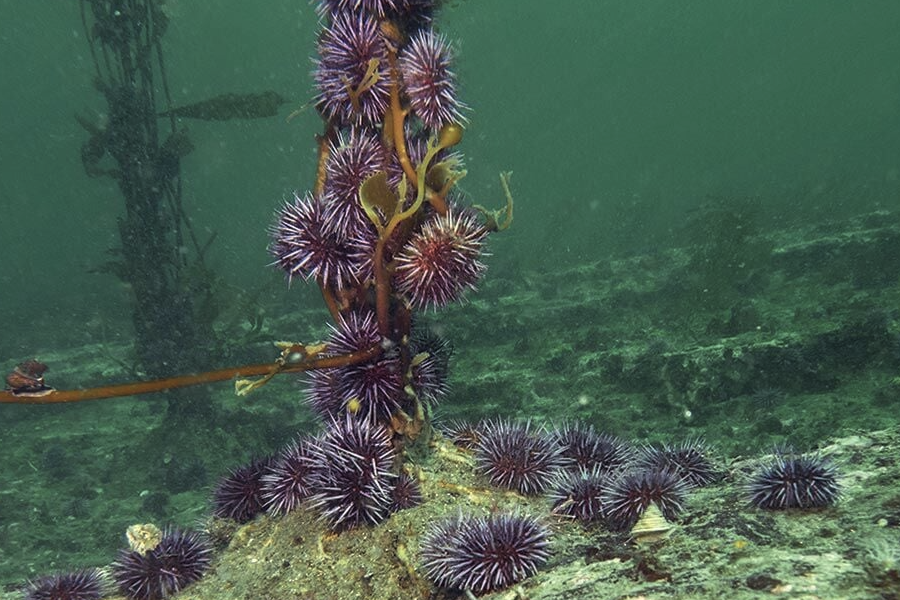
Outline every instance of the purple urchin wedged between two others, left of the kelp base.
POLYGON ((273 515, 291 512, 311 494, 315 464, 308 439, 296 440, 284 448, 262 476, 263 506, 273 515))

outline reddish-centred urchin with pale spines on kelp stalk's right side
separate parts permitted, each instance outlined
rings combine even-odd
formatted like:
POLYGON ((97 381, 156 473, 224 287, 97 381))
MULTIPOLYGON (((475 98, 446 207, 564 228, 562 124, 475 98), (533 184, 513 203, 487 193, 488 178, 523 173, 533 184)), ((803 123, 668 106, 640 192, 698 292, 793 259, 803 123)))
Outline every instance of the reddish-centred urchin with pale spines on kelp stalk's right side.
POLYGON ((420 308, 437 308, 474 289, 487 231, 470 210, 451 207, 426 221, 396 257, 397 290, 420 308))

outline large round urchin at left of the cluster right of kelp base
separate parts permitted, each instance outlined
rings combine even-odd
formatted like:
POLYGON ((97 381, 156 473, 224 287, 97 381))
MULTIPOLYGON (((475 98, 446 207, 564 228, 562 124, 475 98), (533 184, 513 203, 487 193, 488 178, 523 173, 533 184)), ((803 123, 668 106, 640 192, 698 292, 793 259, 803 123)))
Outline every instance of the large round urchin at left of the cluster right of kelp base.
POLYGON ((559 446, 530 422, 486 421, 475 446, 477 470, 491 484, 521 494, 544 492, 566 464, 559 446))

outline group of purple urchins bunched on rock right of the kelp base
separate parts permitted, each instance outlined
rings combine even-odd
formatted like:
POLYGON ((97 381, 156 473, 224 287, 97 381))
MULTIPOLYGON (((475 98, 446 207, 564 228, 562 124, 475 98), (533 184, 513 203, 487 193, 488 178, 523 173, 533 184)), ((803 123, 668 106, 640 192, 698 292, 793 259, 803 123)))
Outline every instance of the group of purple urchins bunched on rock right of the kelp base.
POLYGON ((453 423, 446 435, 474 450, 476 469, 491 484, 526 495, 547 492, 554 514, 604 521, 616 531, 631 529, 654 505, 674 519, 688 492, 717 476, 700 439, 637 451, 581 423, 547 432, 502 419, 453 423))

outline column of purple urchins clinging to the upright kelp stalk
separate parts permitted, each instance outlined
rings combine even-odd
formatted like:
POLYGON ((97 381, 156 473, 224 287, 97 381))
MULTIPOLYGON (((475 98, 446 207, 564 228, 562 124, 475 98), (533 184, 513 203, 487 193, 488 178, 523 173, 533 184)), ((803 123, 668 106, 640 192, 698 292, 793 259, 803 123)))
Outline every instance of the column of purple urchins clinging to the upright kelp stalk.
POLYGON ((449 148, 465 107, 436 5, 319 3, 317 181, 280 210, 271 252, 288 278, 322 289, 336 324, 321 355, 371 353, 310 375, 309 402, 326 420, 349 412, 394 426, 441 396, 446 363, 412 347, 412 311, 474 288, 498 228, 454 190, 463 172, 449 148))

